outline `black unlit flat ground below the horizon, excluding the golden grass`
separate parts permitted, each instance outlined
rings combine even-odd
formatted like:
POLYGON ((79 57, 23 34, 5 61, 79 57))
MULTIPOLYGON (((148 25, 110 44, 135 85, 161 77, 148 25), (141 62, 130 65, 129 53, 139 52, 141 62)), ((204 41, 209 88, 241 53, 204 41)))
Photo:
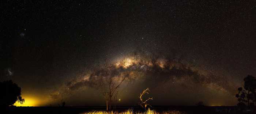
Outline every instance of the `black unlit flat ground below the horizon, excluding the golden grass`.
MULTIPOLYGON (((125 111, 133 109, 134 112, 142 112, 141 107, 136 106, 118 106, 116 111, 125 111)), ((184 111, 188 114, 244 114, 239 112, 235 106, 153 106, 150 109, 159 113, 167 110, 184 111)), ((103 110, 105 107, 9 107, 3 109, 5 114, 79 114, 92 110, 103 110)), ((3 113, 1 113, 3 114, 3 113)))

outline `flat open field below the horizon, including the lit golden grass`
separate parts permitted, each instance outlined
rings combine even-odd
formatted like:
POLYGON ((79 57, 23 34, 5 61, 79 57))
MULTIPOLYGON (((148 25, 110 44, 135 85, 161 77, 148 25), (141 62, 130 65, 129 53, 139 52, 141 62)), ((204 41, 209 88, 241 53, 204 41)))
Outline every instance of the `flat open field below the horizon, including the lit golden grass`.
POLYGON ((144 111, 140 107, 118 106, 114 111, 105 107, 10 107, 8 114, 241 114, 234 106, 153 106, 144 111))

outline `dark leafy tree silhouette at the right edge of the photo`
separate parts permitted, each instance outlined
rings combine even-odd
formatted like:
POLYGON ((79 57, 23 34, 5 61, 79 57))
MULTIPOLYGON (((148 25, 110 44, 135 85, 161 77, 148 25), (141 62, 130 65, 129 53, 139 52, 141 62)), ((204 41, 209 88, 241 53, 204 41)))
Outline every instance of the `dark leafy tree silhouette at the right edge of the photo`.
POLYGON ((256 97, 256 79, 252 75, 248 75, 244 78, 244 89, 238 88, 238 94, 236 94, 238 102, 244 102, 251 107, 255 103, 256 97))

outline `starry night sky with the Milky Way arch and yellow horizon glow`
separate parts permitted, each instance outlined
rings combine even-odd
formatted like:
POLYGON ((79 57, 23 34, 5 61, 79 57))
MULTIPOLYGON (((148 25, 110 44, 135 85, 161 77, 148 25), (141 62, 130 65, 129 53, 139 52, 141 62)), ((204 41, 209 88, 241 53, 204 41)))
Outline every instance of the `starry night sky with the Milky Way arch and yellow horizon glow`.
POLYGON ((236 105, 256 76, 255 4, 3 1, 0 81, 22 88, 23 106, 104 106, 93 77, 112 64, 128 74, 118 105, 137 105, 147 87, 151 105, 236 105))

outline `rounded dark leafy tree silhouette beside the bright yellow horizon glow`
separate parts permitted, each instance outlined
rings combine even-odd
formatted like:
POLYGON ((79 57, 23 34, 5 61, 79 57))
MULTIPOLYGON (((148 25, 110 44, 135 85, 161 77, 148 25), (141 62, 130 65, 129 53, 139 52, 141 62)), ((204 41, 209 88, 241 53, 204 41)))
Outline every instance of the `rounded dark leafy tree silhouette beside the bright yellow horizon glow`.
POLYGON ((20 87, 16 83, 12 82, 12 80, 0 82, 0 90, 2 91, 0 94, 0 106, 10 106, 16 101, 20 104, 25 102, 25 99, 20 96, 20 87))

